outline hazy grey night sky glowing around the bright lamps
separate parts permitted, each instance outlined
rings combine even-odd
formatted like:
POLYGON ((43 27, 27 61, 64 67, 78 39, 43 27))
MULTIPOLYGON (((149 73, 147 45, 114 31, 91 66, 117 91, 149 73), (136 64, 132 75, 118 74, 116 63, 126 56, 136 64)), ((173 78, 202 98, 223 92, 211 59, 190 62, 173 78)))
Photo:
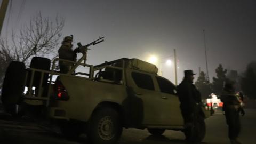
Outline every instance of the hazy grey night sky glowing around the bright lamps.
MULTIPOLYGON (((256 61, 255 7, 256 1, 242 0, 13 0, 2 35, 10 35, 6 29, 19 29, 36 12, 41 11, 45 17, 58 13, 65 18, 63 35, 73 34, 75 42, 87 44, 105 36, 105 42, 91 47, 87 63, 98 64, 123 57, 147 60, 150 55, 164 61, 173 59, 173 49, 176 49, 180 82, 185 69, 198 73, 201 67, 206 71, 205 29, 212 81, 219 63, 241 73, 247 63, 256 61)), ((174 82, 173 66, 161 65, 163 76, 174 82)))

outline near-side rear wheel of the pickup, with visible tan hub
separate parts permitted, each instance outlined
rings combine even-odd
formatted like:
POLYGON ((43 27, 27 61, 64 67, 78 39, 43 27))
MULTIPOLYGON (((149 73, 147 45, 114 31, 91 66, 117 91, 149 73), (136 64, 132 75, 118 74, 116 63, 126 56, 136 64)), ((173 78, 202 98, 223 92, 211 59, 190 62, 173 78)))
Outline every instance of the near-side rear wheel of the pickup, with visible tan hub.
POLYGON ((121 118, 113 108, 100 108, 94 111, 87 132, 92 143, 116 143, 122 133, 121 118))

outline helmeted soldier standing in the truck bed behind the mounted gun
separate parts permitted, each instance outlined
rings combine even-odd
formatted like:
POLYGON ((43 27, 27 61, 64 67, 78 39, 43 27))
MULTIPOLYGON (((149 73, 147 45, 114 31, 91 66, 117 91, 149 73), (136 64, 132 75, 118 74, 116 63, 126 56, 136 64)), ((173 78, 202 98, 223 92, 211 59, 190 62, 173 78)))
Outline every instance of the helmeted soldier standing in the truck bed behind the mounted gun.
MULTIPOLYGON (((63 39, 62 45, 60 49, 58 50, 59 58, 70 60, 70 61, 76 61, 76 53, 80 52, 79 48, 76 48, 74 51, 72 50, 73 47, 73 35, 66 36, 63 39)), ((68 73, 68 71, 71 69, 72 66, 74 66, 73 63, 66 62, 66 61, 59 61, 60 66, 60 73, 68 73)))

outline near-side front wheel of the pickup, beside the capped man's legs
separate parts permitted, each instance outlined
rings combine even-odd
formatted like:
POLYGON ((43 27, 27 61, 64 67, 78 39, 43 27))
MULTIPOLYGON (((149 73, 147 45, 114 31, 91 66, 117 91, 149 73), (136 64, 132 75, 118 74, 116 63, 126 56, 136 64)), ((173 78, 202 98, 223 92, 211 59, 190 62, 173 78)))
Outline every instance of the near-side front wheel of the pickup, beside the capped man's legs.
POLYGON ((190 142, 201 142, 205 137, 206 126, 204 119, 198 118, 194 125, 184 130, 186 140, 190 142))

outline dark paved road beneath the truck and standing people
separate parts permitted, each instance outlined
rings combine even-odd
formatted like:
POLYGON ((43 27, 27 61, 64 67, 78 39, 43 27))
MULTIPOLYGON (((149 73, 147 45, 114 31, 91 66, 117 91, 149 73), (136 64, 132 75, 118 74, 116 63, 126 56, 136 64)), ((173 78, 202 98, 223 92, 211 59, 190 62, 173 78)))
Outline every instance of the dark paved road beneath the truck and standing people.
MULTIPOLYGON (((240 141, 246 144, 256 143, 256 109, 246 109, 246 115, 241 117, 242 132, 240 141)), ((206 137, 201 143, 229 143, 227 125, 221 111, 217 111, 212 117, 206 119, 206 137)), ((146 130, 124 129, 120 144, 155 144, 155 143, 186 143, 184 135, 180 131, 166 131, 162 137, 153 137, 146 130)), ((89 143, 86 135, 78 140, 67 140, 55 126, 46 127, 45 124, 28 122, 27 120, 6 121, 0 120, 0 143, 89 143)))

